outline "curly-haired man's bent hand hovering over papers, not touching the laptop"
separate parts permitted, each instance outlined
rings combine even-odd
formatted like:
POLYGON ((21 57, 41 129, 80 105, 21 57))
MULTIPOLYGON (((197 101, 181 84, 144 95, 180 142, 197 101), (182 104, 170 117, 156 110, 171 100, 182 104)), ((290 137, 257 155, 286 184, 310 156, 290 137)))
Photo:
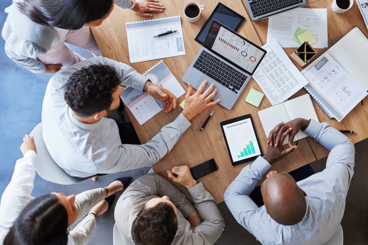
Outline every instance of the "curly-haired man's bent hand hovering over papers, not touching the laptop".
POLYGON ((149 81, 146 82, 143 89, 153 98, 158 99, 163 104, 163 111, 169 112, 171 109, 176 108, 176 96, 169 90, 163 87, 157 86, 149 81))

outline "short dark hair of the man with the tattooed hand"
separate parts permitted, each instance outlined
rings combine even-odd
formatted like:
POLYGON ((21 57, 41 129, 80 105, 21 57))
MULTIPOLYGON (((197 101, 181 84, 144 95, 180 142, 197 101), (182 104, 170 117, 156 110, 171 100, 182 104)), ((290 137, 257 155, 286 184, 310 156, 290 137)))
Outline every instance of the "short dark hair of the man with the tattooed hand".
POLYGON ((178 230, 178 220, 172 206, 160 202, 153 208, 142 208, 132 225, 135 245, 170 245, 178 230))

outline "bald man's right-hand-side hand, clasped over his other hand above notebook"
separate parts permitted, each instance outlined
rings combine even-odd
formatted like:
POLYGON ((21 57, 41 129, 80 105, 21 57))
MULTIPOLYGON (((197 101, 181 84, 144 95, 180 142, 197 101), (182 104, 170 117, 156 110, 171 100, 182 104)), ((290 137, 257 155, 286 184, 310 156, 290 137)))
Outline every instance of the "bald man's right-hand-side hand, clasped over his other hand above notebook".
MULTIPOLYGON (((296 118, 285 124, 284 122, 280 122, 274 129, 270 131, 268 138, 267 138, 267 144, 271 146, 275 144, 275 146, 277 147, 277 145, 280 142, 280 139, 282 138, 283 133, 289 130, 289 128, 291 128, 290 133, 289 133, 290 134, 289 135, 289 146, 293 147, 293 140, 296 134, 299 132, 299 130, 304 131, 305 129, 307 129, 310 122, 311 121, 307 119, 303 119, 303 118, 296 118)), ((281 142, 284 142, 284 139, 285 138, 283 138, 281 142)))

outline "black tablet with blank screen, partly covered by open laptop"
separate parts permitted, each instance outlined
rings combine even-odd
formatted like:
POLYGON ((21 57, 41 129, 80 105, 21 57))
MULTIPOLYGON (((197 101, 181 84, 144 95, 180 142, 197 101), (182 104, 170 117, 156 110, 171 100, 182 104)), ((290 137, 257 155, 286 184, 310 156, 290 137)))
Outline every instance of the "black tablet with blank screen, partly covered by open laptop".
POLYGON ((218 3, 194 40, 203 45, 209 28, 214 19, 224 26, 227 26, 227 28, 230 28, 234 32, 238 31, 239 27, 241 26, 241 24, 243 24, 245 20, 243 16, 241 16, 234 10, 231 10, 222 3, 218 3))

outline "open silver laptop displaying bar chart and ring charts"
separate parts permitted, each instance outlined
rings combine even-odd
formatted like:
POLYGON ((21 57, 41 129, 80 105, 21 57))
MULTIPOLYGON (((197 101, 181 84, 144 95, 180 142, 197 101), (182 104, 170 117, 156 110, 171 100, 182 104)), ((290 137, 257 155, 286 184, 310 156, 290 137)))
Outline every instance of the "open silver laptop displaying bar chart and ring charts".
POLYGON ((215 83, 217 93, 213 100, 220 98, 219 104, 230 110, 266 52, 213 20, 203 47, 181 80, 198 89, 207 79, 208 83, 203 91, 215 83))

